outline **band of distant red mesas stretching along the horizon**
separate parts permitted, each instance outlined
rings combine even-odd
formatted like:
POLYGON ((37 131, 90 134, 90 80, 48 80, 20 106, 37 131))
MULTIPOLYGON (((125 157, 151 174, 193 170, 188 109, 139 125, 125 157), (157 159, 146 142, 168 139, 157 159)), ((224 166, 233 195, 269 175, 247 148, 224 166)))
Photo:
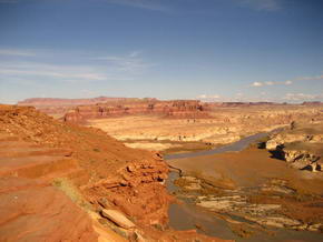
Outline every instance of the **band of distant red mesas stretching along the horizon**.
MULTIPOLYGON (((302 105, 320 105, 322 102, 303 102, 302 105)), ((32 98, 18 102, 18 105, 30 105, 37 110, 66 122, 82 122, 120 115, 156 114, 175 119, 211 118, 209 111, 218 108, 243 108, 258 105, 287 105, 275 102, 203 102, 199 100, 166 100, 156 98, 109 98, 59 99, 32 98)))

